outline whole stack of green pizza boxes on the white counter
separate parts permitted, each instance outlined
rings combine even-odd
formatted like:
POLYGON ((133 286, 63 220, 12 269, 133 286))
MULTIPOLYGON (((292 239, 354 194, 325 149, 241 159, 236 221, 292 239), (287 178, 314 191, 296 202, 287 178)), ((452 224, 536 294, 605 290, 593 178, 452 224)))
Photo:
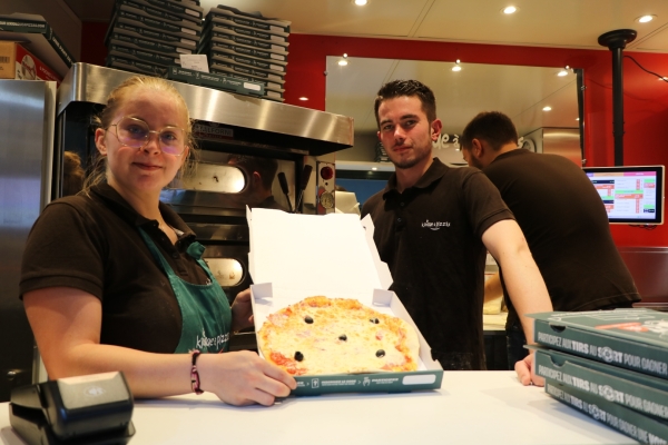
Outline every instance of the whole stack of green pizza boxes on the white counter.
POLYGON ((668 442, 668 314, 534 314, 546 392, 641 443, 668 442))

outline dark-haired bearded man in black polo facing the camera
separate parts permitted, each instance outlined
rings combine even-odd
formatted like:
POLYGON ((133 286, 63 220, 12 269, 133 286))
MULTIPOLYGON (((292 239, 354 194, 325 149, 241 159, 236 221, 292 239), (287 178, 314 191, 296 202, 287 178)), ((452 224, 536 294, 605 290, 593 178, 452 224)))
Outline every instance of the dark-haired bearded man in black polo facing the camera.
MULTIPOLYGON (((512 212, 478 169, 432 158, 441 132, 433 92, 415 80, 384 85, 375 100, 379 138, 395 166, 371 197, 374 240, 392 289, 444 369, 484 369, 482 304, 485 253, 503 267, 528 338, 524 314, 552 310, 544 283, 512 212)), ((523 377, 523 383, 529 379, 523 377)))

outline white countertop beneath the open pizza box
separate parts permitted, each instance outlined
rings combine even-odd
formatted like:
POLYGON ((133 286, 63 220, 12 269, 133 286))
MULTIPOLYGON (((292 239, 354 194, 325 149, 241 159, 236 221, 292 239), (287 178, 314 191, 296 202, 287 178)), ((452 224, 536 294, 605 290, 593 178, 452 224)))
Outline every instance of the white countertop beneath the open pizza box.
MULTIPOLYGON (((137 400, 143 444, 635 444, 513 372, 446 372, 440 390, 289 397, 233 407, 213 395, 137 400)), ((0 443, 18 445, 0 404, 0 443)))

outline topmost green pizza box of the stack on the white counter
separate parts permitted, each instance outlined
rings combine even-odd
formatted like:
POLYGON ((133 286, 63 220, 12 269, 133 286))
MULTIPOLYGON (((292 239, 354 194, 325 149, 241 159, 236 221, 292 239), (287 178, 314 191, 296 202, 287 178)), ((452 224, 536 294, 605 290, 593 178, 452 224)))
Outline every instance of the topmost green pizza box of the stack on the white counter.
POLYGON ((645 308, 531 314, 534 340, 553 349, 668 378, 668 314, 645 308))

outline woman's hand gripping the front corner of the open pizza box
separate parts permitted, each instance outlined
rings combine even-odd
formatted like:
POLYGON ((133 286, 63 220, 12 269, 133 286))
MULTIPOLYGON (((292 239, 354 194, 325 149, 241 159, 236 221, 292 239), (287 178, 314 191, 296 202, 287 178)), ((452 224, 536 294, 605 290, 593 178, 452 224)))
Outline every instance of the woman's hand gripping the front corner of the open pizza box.
POLYGON ((276 397, 286 397, 297 387, 289 374, 249 350, 203 354, 197 369, 202 389, 230 405, 269 406, 276 397))

